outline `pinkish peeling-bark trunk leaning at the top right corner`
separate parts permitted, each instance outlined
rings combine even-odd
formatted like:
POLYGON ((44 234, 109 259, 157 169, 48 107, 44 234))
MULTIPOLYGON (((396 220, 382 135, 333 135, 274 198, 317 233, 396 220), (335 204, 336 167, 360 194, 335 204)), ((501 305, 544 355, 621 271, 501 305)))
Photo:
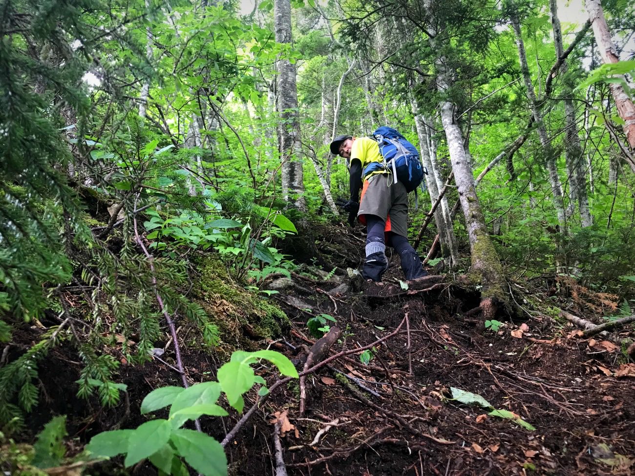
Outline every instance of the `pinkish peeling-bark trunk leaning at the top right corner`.
MULTIPOLYGON (((611 34, 608 31, 608 25, 606 24, 604 10, 602 10, 600 0, 585 0, 584 3, 585 8, 589 12, 589 20, 591 20, 593 33, 595 34, 602 60, 605 63, 617 63, 620 58, 617 56, 611 34)), ((622 75, 622 77, 624 76, 622 75)), ((621 84, 610 83, 609 87, 611 93, 613 93, 617 112, 625 122, 624 132, 626 133, 626 139, 631 149, 635 149, 635 106, 621 84)))

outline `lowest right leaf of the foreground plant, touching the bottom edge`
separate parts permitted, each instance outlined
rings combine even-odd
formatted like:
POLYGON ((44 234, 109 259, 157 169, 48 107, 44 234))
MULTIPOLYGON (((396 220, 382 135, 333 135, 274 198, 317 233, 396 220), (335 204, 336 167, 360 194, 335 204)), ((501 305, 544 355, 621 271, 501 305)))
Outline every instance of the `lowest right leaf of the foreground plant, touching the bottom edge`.
POLYGON ((171 441, 188 465, 204 476, 227 476, 227 457, 220 443, 194 430, 175 430, 171 441))

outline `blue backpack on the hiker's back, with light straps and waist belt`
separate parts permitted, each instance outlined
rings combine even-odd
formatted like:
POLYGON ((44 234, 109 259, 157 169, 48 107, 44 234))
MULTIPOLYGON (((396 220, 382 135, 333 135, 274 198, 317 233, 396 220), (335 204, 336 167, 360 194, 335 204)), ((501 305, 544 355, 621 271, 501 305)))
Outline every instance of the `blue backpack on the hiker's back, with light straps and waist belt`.
POLYGON ((424 188, 424 174, 427 169, 421 165, 419 152, 396 129, 382 126, 373 132, 373 138, 377 140, 379 151, 384 157, 384 163, 373 162, 364 168, 363 176, 380 169, 392 169, 394 182, 401 182, 406 191, 417 190, 421 185, 424 188))

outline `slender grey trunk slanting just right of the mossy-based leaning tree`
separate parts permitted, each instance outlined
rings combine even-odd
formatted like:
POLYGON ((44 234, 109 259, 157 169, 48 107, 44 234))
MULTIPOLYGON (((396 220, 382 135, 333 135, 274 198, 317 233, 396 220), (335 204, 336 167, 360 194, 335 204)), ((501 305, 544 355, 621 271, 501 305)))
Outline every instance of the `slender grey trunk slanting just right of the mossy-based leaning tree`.
POLYGON ((525 79, 525 87, 527 90, 527 96, 530 101, 531 114, 537 124, 538 138, 540 139, 540 145, 542 146, 542 153, 545 157, 545 163, 547 165, 547 171, 549 176, 549 183, 551 184, 551 194, 553 195, 554 207, 556 208, 556 215, 558 216, 558 223, 560 225, 560 231, 565 233, 566 220, 565 220, 565 206, 563 202, 562 185, 558 175, 558 168, 556 166, 556 157, 549 136, 547 135, 547 129, 545 129, 544 122, 542 122, 542 114, 538 108, 538 99, 536 93, 533 90, 533 84, 531 84, 531 75, 529 72, 529 66, 527 63, 527 54, 525 53, 525 43, 523 42, 523 36, 521 34, 520 22, 516 12, 509 14, 512 27, 516 33, 516 46, 518 47, 518 57, 520 60, 521 71, 523 73, 523 79, 525 79))

